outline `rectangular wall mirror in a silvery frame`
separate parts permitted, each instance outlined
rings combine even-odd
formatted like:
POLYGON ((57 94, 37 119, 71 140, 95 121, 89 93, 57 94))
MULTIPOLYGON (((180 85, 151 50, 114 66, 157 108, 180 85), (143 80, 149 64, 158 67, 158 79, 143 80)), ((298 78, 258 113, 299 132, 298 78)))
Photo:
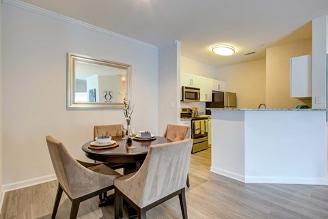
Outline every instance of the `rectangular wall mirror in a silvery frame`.
POLYGON ((68 53, 67 108, 123 108, 131 65, 68 53))

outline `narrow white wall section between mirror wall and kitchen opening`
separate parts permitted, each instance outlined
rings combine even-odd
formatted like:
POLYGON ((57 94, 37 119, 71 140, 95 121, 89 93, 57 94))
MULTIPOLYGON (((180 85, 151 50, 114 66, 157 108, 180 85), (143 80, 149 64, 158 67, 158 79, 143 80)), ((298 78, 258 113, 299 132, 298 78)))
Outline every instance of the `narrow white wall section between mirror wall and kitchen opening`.
POLYGON ((180 122, 180 42, 159 49, 159 134, 180 122))

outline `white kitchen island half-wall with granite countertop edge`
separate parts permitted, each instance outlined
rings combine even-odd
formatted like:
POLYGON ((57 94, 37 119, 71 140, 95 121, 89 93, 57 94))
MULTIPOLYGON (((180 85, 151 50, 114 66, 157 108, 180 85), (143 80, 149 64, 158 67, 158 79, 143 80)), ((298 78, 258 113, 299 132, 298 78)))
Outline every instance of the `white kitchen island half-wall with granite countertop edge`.
POLYGON ((246 183, 327 184, 325 109, 208 109, 213 173, 246 183))

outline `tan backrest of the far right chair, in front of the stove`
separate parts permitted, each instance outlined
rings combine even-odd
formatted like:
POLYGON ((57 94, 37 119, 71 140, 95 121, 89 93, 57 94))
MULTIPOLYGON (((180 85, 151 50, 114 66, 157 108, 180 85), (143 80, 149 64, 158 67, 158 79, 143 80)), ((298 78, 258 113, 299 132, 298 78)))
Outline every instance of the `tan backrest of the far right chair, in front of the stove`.
POLYGON ((191 128, 189 126, 167 125, 163 137, 171 141, 181 141, 191 138, 191 128))

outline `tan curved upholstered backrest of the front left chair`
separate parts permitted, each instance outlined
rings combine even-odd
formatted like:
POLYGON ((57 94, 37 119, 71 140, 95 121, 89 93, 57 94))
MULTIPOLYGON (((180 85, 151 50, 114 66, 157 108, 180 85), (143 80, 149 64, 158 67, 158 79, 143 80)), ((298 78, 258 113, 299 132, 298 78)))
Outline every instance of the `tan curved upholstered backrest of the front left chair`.
POLYGON ((108 177, 85 168, 68 153, 66 147, 52 136, 46 136, 53 169, 59 184, 72 199, 89 194, 110 184, 108 177), (107 183, 106 183, 107 181, 107 183))

